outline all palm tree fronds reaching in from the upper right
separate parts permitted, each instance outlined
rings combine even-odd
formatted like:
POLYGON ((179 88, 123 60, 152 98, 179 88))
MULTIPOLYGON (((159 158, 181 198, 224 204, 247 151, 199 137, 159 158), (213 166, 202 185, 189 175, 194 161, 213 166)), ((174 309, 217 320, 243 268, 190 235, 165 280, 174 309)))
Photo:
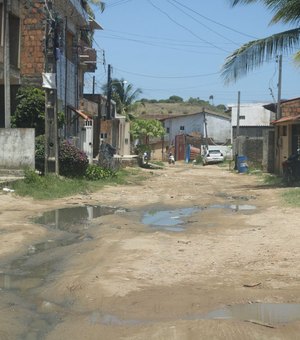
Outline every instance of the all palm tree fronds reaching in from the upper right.
MULTIPOLYGON (((249 71, 261 66, 282 53, 295 52, 300 46, 300 1, 299 0, 229 0, 232 6, 238 4, 263 3, 274 15, 270 24, 283 22, 296 27, 266 38, 250 41, 229 55, 222 68, 226 83, 235 81, 249 71)), ((300 61, 300 52, 295 54, 300 61)))

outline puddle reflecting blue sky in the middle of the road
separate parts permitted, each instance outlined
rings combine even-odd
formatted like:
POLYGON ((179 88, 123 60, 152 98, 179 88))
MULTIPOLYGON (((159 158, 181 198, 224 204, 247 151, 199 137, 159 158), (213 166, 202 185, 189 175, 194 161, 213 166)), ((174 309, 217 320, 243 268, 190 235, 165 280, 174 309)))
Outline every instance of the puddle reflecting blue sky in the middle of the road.
POLYGON ((213 204, 205 208, 193 207, 174 210, 148 211, 142 218, 142 223, 167 231, 184 231, 184 218, 195 212, 208 209, 225 209, 231 212, 251 212, 256 206, 249 204, 213 204))

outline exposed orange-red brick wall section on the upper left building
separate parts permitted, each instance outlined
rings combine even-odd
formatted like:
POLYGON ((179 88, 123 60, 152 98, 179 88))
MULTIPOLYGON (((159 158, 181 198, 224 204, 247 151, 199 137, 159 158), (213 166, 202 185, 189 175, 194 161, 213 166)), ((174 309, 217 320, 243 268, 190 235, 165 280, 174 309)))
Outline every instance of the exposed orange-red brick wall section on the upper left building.
POLYGON ((23 85, 41 85, 44 70, 44 1, 22 2, 21 78, 23 85))

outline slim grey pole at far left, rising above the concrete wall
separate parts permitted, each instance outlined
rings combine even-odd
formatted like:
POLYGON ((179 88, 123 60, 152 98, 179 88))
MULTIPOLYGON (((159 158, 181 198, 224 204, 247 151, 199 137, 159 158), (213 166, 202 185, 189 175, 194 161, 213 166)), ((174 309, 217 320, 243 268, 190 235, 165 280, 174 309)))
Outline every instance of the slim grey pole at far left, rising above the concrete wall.
POLYGON ((5 28, 4 28, 4 126, 10 128, 11 102, 10 102, 10 41, 9 41, 9 13, 11 0, 4 1, 5 28))

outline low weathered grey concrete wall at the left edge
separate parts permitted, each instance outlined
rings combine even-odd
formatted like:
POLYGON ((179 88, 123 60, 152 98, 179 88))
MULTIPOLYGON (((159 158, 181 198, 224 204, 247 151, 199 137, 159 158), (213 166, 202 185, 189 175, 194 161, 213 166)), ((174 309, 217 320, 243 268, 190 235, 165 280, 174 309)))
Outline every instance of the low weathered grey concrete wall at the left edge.
POLYGON ((0 167, 35 167, 35 130, 0 129, 0 167))

